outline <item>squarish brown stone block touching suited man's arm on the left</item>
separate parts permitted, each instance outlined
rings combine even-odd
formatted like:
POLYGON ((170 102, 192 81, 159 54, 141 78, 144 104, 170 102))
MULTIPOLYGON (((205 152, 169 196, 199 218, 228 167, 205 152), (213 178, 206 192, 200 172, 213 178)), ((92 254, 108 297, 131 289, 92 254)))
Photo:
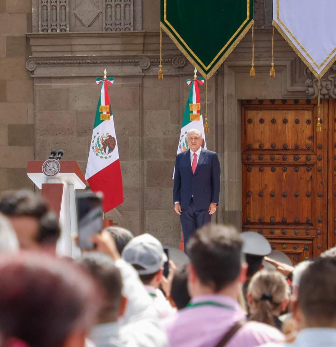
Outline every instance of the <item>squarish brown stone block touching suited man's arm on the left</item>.
POLYGON ((146 187, 168 188, 173 186, 173 170, 175 161, 153 160, 146 161, 146 187))

